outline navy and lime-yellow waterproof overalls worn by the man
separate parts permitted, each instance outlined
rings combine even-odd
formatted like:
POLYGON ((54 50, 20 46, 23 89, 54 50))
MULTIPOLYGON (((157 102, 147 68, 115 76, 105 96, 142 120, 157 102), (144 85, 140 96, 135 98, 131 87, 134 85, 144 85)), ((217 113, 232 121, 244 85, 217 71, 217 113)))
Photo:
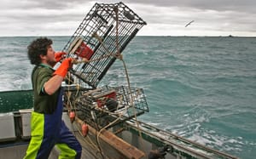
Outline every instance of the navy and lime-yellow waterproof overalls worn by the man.
POLYGON ((24 159, 47 159, 56 145, 61 150, 59 159, 81 158, 82 147, 62 121, 63 91, 58 96, 56 110, 52 114, 33 111, 31 119, 32 138, 24 159))

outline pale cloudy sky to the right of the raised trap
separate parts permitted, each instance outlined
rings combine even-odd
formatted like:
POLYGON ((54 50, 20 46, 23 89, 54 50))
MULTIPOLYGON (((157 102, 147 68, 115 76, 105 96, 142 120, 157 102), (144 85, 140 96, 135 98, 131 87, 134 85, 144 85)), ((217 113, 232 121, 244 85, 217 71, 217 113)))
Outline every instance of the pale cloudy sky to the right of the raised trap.
POLYGON ((147 1, 146 7, 142 3, 137 1, 134 6, 148 24, 154 25, 147 33, 158 30, 160 35, 256 36, 253 1, 147 1), (191 20, 195 23, 183 28, 191 20))

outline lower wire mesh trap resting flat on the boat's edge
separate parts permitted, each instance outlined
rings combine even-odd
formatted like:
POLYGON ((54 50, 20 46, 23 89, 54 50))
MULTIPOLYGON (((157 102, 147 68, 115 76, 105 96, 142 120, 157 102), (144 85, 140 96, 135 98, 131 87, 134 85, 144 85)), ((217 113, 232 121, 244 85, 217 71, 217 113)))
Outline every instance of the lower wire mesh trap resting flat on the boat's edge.
POLYGON ((113 126, 149 111, 142 88, 104 86, 82 92, 73 102, 80 119, 99 127, 119 118, 113 126))

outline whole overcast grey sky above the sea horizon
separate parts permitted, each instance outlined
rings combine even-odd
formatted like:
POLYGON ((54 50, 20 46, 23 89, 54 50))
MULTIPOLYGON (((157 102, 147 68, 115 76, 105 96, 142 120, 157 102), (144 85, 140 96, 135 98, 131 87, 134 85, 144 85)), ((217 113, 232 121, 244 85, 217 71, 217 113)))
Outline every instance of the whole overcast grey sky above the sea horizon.
MULTIPOLYGON (((118 2, 0 0, 0 36, 71 36, 95 3, 118 2)), ((255 0, 122 2, 147 22, 140 36, 256 37, 255 0)))

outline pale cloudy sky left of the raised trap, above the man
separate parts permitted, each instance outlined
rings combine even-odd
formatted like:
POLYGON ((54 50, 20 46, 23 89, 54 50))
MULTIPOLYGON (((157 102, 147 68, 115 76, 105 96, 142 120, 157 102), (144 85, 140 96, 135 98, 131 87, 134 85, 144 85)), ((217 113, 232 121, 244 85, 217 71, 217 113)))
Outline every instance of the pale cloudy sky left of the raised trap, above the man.
POLYGON ((1 36, 72 34, 92 4, 63 1, 10 1, 0 7, 1 36), (87 5, 86 5, 87 4, 87 5), (88 6, 88 7, 84 7, 88 6), (85 9, 85 10, 84 10, 85 9))

